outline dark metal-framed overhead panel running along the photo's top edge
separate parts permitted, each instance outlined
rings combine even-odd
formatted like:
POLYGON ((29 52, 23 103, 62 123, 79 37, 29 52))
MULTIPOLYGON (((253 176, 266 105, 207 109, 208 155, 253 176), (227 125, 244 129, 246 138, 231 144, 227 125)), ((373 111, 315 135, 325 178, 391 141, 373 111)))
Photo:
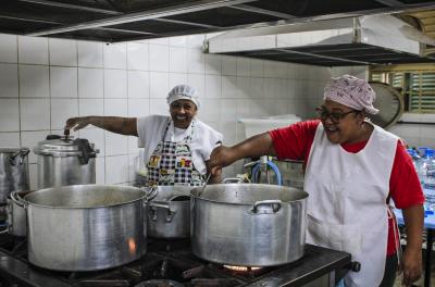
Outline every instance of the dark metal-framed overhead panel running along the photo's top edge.
MULTIPOLYGON (((116 42, 434 8, 427 0, 10 0, 0 1, 0 33, 116 42)), ((434 17, 425 21, 433 33, 434 17)))

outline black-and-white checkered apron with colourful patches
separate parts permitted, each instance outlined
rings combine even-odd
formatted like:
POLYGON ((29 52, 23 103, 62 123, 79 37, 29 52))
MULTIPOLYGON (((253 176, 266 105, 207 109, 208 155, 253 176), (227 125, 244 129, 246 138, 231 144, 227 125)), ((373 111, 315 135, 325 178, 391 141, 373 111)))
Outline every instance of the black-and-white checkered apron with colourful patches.
POLYGON ((161 141, 157 145, 147 164, 148 186, 201 186, 204 180, 195 169, 190 142, 195 132, 195 121, 191 132, 181 141, 165 141, 171 121, 167 123, 161 141))

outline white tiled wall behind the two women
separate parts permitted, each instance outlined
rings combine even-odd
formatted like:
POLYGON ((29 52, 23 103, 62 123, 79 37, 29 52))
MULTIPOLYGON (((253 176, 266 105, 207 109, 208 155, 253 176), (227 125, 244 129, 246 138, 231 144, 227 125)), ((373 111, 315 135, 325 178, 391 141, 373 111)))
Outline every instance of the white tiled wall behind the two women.
MULTIPOLYGON (((0 34, 0 146, 33 148, 47 134, 61 133, 70 116, 169 114, 166 93, 184 83, 200 95, 199 118, 231 145, 245 137, 238 117, 312 115, 327 79, 349 71, 203 54, 206 37, 105 45, 0 34)), ((352 67, 350 73, 364 76, 364 71, 352 67)), ((95 127, 74 136, 100 150, 98 184, 133 179, 134 137, 95 127)), ((35 188, 34 154, 29 162, 35 188)), ((235 171, 232 166, 226 174, 235 171)))

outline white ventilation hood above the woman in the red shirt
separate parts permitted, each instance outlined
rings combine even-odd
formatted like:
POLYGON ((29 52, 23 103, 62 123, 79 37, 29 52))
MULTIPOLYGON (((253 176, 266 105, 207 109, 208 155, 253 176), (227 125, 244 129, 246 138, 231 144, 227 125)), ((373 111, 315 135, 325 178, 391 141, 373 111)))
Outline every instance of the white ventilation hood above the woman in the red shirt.
POLYGON ((227 32, 209 53, 322 66, 435 62, 435 39, 393 15, 368 15, 227 32))

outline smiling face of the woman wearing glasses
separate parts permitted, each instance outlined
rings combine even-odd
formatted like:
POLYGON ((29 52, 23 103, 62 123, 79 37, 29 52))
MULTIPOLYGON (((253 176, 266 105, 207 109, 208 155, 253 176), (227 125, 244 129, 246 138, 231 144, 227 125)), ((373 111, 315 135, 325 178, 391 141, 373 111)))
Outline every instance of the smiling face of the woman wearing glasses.
POLYGON ((364 112, 328 99, 321 109, 320 117, 331 142, 353 144, 370 136, 364 125, 364 112))

